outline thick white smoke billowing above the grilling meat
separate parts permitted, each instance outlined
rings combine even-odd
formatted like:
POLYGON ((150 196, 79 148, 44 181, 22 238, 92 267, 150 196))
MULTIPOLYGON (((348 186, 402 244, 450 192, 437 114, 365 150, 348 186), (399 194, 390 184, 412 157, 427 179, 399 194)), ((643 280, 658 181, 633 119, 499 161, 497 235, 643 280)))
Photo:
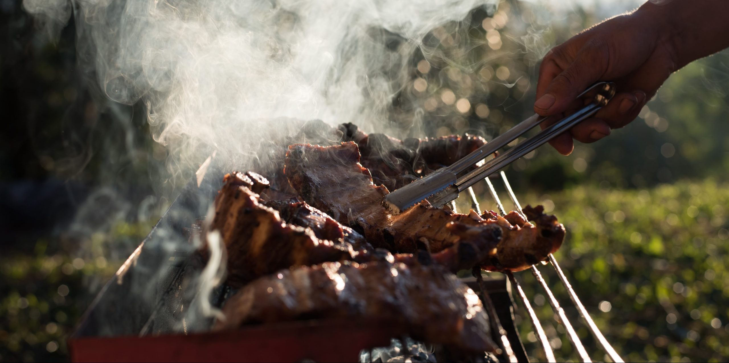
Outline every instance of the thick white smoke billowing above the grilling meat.
MULTIPOLYGON (((381 130, 434 26, 493 0, 25 0, 51 31, 76 21, 106 96, 147 105, 175 168, 251 155, 276 117, 381 130), (394 44, 394 45, 393 45, 394 44)), ((181 169, 181 171, 182 171, 181 169)))

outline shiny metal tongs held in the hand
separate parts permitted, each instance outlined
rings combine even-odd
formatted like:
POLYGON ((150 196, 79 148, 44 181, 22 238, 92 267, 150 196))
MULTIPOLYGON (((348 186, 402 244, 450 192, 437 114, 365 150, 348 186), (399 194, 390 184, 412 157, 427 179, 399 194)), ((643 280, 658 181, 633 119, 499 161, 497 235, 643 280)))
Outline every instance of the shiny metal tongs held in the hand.
POLYGON ((583 102, 581 109, 577 109, 574 113, 539 131, 536 135, 521 141, 515 147, 508 149, 507 152, 488 160, 488 162, 483 163, 483 165, 480 165, 473 171, 459 176, 460 173, 463 173, 472 165, 481 163, 488 155, 493 154, 511 141, 514 141, 519 136, 531 130, 531 128, 534 128, 534 126, 553 117, 541 117, 539 114, 534 114, 507 132, 494 138, 488 144, 483 145, 483 147, 476 149, 466 157, 456 161, 453 165, 440 168, 428 176, 386 195, 382 202, 383 206, 388 208, 393 214, 399 214, 425 199, 432 206, 444 206, 446 203, 451 202, 451 200, 458 198, 459 192, 467 190, 473 184, 476 184, 476 182, 499 171, 519 157, 529 154, 529 152, 542 146, 542 144, 555 138, 555 136, 577 125, 580 121, 593 116, 599 109, 607 105, 613 95, 615 95, 614 83, 597 82, 577 96, 577 100, 583 102))

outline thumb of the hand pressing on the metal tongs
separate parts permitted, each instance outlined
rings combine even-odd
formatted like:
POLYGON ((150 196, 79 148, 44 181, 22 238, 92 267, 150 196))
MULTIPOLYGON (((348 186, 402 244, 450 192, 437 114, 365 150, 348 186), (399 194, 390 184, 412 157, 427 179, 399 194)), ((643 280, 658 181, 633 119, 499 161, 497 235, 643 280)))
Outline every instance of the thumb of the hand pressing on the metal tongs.
POLYGON ((601 80, 607 69, 607 47, 589 45, 583 48, 569 66, 558 74, 534 103, 534 112, 551 116, 568 110, 588 86, 601 80))

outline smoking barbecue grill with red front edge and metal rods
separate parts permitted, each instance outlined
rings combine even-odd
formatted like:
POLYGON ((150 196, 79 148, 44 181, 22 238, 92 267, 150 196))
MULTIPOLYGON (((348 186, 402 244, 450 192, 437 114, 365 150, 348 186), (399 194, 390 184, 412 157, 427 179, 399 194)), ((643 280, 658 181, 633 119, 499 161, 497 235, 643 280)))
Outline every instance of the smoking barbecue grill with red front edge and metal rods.
MULTIPOLYGON (((147 238, 90 305, 69 339, 74 362, 351 362, 375 357, 382 361, 383 357, 387 357, 383 352, 393 350, 402 351, 399 359, 405 362, 406 359, 411 362, 433 359, 432 354, 416 356, 418 349, 411 348, 418 345, 404 337, 402 328, 387 321, 310 320, 209 332, 214 317, 206 313, 206 307, 221 306, 231 294, 231 289, 222 284, 211 294, 206 293, 209 290, 200 293, 197 276, 205 268, 205 262, 195 253, 195 246, 185 241, 190 239, 190 227, 208 214, 214 195, 222 185, 224 168, 211 163, 211 160, 212 157, 203 163, 195 180, 182 190, 147 238), (397 340, 391 340, 391 337, 397 340), (390 348, 373 350, 387 346, 390 348)), ((500 176, 512 203, 521 213, 521 205, 503 171, 500 176)), ((506 214, 491 180, 486 178, 485 181, 499 212, 506 214)), ((470 187, 468 194, 472 206, 480 210, 470 187)), ((551 254, 548 258, 572 303, 607 356, 613 362, 623 362, 580 303, 556 259, 551 254)), ((566 330, 580 361, 591 362, 564 309, 536 265, 531 266, 531 273, 544 289, 555 313, 554 319, 566 330)), ((547 361, 555 362, 542 324, 518 279, 512 273, 506 273, 504 278, 484 278, 480 270, 475 270, 474 275, 464 282, 479 292, 488 311, 494 341, 500 346, 497 351, 501 355, 499 359, 509 362, 529 360, 512 320, 515 307, 512 289, 515 289, 517 300, 521 301, 529 315, 547 361)), ((439 354, 445 353, 436 351, 437 359, 448 359, 448 356, 439 354)))

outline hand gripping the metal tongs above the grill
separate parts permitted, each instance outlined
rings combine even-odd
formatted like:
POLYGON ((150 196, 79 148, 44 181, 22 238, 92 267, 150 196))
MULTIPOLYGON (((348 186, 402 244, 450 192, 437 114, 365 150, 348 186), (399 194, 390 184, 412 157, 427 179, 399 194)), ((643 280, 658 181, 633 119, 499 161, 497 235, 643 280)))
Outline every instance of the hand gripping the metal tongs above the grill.
MULTIPOLYGON (((542 61, 534 111, 551 116, 569 111, 574 99, 600 80, 610 80, 617 94, 592 118, 550 141, 569 155, 572 138, 589 143, 635 119, 668 76, 677 70, 670 32, 661 20, 634 12, 606 20, 553 48, 542 61)), ((549 123, 542 124, 545 128, 549 123)))

